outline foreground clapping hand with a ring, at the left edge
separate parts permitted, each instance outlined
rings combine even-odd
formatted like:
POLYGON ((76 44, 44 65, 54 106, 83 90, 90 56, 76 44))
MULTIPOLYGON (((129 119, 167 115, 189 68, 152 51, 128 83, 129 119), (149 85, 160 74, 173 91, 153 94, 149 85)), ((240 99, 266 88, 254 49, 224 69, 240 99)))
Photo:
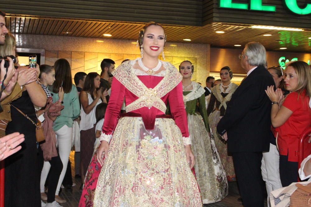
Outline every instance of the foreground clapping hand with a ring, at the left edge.
POLYGON ((19 151, 21 146, 18 145, 24 142, 24 140, 24 135, 18 132, 0 138, 0 160, 4 160, 19 151))

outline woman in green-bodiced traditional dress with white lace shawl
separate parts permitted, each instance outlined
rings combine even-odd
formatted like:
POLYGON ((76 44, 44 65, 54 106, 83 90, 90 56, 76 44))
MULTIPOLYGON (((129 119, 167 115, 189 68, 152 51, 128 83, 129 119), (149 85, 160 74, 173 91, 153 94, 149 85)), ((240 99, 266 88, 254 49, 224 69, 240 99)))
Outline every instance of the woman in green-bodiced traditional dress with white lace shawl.
POLYGON ((228 195, 228 182, 214 138, 210 134, 205 90, 198 83, 191 81, 193 70, 190 61, 183 61, 179 66, 179 72, 183 76, 183 102, 187 112, 191 148, 195 156, 194 171, 202 203, 208 204, 220 201, 228 195), (199 113, 196 112, 197 106, 199 113))

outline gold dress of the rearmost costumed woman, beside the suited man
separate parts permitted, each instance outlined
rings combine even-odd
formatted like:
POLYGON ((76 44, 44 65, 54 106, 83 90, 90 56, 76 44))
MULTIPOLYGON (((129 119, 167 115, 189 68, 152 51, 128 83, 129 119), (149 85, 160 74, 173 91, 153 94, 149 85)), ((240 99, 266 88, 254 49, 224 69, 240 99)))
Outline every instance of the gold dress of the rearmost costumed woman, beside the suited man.
POLYGON ((228 181, 236 181, 232 156, 228 156, 227 143, 223 141, 217 132, 217 124, 225 115, 227 104, 229 103, 232 94, 238 88, 237 84, 230 83, 227 89, 224 89, 221 84, 214 86, 211 91, 210 103, 207 108, 208 120, 211 126, 212 133, 215 137, 215 143, 220 155, 221 162, 225 168, 228 181))

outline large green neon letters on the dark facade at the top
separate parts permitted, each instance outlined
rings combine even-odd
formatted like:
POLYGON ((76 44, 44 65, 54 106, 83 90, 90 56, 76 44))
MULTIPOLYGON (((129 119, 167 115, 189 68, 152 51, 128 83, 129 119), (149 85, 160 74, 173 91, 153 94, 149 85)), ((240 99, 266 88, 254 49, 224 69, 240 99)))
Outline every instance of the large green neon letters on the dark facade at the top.
MULTIPOLYGON (((283 0, 286 7, 295 14, 311 14, 311 4, 307 3, 304 8, 300 8, 296 0, 283 0)), ((232 0, 219 0, 219 8, 243 9, 252 11, 269 11, 275 12, 276 6, 262 5, 262 0, 249 0, 248 3, 233 3, 232 0)))

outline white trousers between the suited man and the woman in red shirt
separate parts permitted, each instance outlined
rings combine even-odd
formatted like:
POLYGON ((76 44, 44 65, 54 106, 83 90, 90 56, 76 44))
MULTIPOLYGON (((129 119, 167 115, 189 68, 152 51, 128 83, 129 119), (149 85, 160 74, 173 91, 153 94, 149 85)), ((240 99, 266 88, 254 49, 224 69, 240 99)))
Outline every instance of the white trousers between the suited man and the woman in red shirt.
POLYGON ((270 143, 270 150, 262 153, 261 174, 262 179, 266 182, 268 193, 267 203, 270 207, 270 192, 282 187, 280 178, 280 155, 276 146, 270 143))

